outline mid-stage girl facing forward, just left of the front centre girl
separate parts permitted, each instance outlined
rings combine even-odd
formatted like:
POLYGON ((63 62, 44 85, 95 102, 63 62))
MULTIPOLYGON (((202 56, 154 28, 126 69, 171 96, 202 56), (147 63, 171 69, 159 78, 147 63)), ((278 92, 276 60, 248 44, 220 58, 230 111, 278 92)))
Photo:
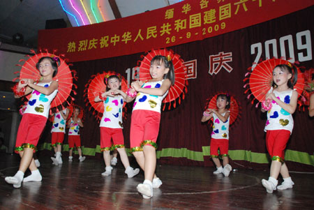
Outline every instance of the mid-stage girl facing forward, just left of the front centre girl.
POLYGON ((100 121, 100 151, 103 151, 105 160, 105 172, 101 175, 110 176, 112 167, 110 166, 110 150, 117 149, 120 154, 121 162, 128 174, 128 178, 137 175, 140 170, 130 167, 126 149, 124 147, 124 135, 122 133, 122 109, 126 93, 121 91, 121 79, 118 75, 110 75, 105 78, 106 92, 96 96, 95 102, 103 101, 104 112, 100 121), (111 138, 113 144, 111 144, 111 138))

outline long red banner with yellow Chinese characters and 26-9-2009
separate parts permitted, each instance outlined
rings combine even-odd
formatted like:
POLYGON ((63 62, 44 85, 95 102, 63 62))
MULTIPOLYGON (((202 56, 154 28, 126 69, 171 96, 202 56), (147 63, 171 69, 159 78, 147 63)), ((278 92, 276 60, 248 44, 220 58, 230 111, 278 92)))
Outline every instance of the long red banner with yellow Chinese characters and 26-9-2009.
POLYGON ((313 6, 313 0, 186 0, 118 20, 38 32, 38 48, 70 62, 203 40, 313 6))

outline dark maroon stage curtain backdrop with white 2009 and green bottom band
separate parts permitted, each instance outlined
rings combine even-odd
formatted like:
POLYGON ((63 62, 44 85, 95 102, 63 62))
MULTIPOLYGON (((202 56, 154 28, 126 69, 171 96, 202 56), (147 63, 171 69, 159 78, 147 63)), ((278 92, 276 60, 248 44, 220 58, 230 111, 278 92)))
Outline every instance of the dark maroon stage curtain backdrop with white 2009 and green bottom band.
MULTIPOLYGON (((241 165, 269 163, 263 131, 266 115, 246 98, 244 75, 254 61, 267 57, 290 57, 292 61, 300 61, 300 66, 313 67, 313 14, 314 7, 311 6, 252 27, 169 47, 194 66, 188 66, 190 79, 186 98, 174 110, 161 114, 157 142, 159 163, 212 165, 209 158, 211 128, 208 123, 201 123, 201 118, 207 98, 219 91, 235 96, 241 106, 240 117, 230 128, 232 161, 241 165), (218 56, 218 61, 213 59, 214 56, 218 56), (221 68, 217 68, 218 63, 223 64, 221 68)), ((85 107, 84 85, 91 75, 104 70, 130 77, 142 54, 144 52, 74 63, 73 69, 77 70, 78 77, 76 103, 84 107, 85 112, 81 133, 85 154, 100 153, 100 133, 98 122, 85 107)), ((314 166, 314 120, 308 117, 307 107, 305 110, 297 110, 294 114, 294 130, 285 153, 290 167, 297 170, 313 170, 314 166)), ((124 121, 126 147, 129 146, 130 117, 129 109, 124 121)), ((43 144, 42 148, 49 148, 49 143, 43 144)))

